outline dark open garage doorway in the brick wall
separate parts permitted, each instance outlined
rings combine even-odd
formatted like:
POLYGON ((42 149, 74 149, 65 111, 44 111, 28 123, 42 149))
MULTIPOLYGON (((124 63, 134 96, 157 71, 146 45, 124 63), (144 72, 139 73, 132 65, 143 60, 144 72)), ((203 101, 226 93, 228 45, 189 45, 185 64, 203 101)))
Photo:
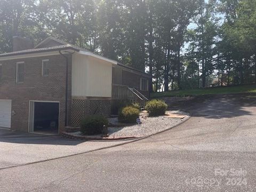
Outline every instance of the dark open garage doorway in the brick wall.
POLYGON ((35 102, 34 132, 58 133, 59 103, 35 102))

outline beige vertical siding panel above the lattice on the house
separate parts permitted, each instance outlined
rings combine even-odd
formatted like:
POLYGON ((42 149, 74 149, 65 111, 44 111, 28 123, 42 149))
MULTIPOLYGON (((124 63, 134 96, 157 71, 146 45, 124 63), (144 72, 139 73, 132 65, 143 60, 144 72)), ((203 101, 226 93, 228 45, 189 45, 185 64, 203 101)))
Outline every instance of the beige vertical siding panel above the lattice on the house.
POLYGON ((72 62, 72 95, 111 97, 112 64, 75 53, 72 62))

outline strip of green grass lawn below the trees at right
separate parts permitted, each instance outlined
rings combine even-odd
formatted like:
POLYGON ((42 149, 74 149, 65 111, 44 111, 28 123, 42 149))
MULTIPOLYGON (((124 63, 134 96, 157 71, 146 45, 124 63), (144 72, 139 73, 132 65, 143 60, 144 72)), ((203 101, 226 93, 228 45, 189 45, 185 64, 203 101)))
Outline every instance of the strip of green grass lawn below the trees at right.
POLYGON ((158 92, 158 93, 151 93, 150 96, 151 96, 151 98, 185 97, 185 96, 193 96, 193 95, 228 94, 228 93, 256 93, 256 84, 241 85, 241 86, 212 87, 212 88, 194 89, 194 90, 158 92))

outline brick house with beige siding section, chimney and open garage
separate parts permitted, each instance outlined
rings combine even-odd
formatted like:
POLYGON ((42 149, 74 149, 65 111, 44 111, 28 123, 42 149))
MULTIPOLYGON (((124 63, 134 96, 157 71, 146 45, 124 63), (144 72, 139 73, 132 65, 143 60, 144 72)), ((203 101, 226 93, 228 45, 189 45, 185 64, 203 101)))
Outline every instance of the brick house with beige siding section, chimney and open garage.
POLYGON ((110 115, 111 104, 145 105, 150 75, 49 37, 35 47, 13 38, 0 54, 0 127, 60 133, 86 115, 110 115))

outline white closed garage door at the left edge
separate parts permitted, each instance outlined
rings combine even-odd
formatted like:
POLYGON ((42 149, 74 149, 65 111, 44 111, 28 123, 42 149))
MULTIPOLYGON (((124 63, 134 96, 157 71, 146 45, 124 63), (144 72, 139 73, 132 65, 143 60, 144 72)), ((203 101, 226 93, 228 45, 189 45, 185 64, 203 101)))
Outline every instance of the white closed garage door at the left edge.
POLYGON ((0 99, 0 127, 11 128, 12 100, 0 99))

